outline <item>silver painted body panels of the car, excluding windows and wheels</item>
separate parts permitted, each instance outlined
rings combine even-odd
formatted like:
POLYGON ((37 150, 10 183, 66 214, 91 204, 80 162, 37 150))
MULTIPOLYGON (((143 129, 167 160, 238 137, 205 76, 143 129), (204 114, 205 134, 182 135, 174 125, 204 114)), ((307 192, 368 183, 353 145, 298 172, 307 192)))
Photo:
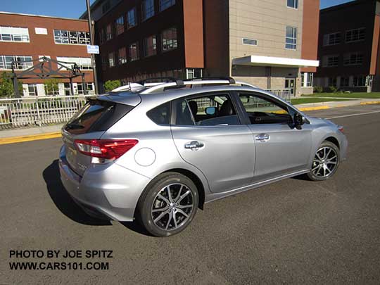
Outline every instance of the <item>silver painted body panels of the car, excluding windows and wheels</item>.
POLYGON ((253 87, 213 86, 173 89, 154 94, 119 92, 100 99, 125 103, 134 108, 106 132, 73 136, 63 130, 60 170, 63 185, 76 201, 91 206, 114 220, 132 221, 146 186, 167 171, 193 173, 203 185, 205 203, 310 171, 317 148, 327 138, 338 141, 341 159, 346 158, 347 140, 328 120, 310 118, 291 104, 253 87), (305 118, 302 129, 289 125, 175 126, 157 125, 146 113, 163 103, 193 94, 215 91, 248 91, 286 104, 305 118), (260 134, 267 141, 257 141, 260 134), (138 139, 139 143, 112 163, 96 165, 76 153, 72 167, 68 153, 74 139, 138 139), (184 148, 200 141, 198 150, 184 148))

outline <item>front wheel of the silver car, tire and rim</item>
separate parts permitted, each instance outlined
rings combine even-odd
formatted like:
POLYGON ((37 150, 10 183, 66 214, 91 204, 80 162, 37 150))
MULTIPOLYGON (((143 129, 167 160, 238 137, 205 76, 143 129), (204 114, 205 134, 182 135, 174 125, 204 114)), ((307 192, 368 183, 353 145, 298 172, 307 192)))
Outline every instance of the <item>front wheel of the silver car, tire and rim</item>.
POLYGON ((315 153, 312 166, 310 167, 310 172, 308 173, 308 178, 312 181, 323 181, 331 178, 335 174, 336 170, 338 170, 340 160, 341 156, 339 154, 338 146, 331 143, 331 141, 323 141, 315 153), (322 157, 322 153, 325 150, 327 152, 331 150, 329 155, 325 159, 319 159, 322 157), (336 158, 334 158, 334 156, 336 156, 336 158), (322 164, 322 167, 319 167, 320 164, 318 161, 323 162, 320 163, 322 164), (326 166, 324 166, 324 164, 326 166), (334 168, 331 168, 333 166, 334 168), (317 171, 318 167, 319 171, 317 171))

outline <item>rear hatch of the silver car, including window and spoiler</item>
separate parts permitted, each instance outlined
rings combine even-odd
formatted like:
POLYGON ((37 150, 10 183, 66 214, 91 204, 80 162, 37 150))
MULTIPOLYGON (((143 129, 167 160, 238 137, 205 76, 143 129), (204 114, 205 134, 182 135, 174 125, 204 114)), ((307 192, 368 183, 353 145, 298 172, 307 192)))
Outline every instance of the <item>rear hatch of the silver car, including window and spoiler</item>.
MULTIPOLYGON (((123 92, 125 93, 125 92, 123 92)), ((72 119, 63 126, 63 143, 66 146, 66 160, 78 175, 82 176, 91 165, 91 157, 77 151, 76 139, 101 139, 107 129, 127 115, 141 99, 137 94, 128 98, 118 94, 90 99, 72 119)))

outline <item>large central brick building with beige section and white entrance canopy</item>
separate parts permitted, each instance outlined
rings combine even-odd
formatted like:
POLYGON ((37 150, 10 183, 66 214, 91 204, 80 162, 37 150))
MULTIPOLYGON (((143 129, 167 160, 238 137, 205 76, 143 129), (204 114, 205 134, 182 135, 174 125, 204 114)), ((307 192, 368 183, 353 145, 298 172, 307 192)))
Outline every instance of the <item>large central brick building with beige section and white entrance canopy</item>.
POLYGON ((234 76, 312 93, 318 11, 319 0, 96 0, 99 80, 234 76))

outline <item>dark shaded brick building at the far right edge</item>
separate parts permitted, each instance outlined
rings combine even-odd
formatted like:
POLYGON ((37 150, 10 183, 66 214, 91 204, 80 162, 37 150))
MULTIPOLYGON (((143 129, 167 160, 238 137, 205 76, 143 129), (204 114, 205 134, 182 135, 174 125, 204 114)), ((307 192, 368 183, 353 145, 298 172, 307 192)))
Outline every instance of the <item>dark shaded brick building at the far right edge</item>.
POLYGON ((380 91, 380 1, 356 0, 322 9, 315 86, 380 91))

